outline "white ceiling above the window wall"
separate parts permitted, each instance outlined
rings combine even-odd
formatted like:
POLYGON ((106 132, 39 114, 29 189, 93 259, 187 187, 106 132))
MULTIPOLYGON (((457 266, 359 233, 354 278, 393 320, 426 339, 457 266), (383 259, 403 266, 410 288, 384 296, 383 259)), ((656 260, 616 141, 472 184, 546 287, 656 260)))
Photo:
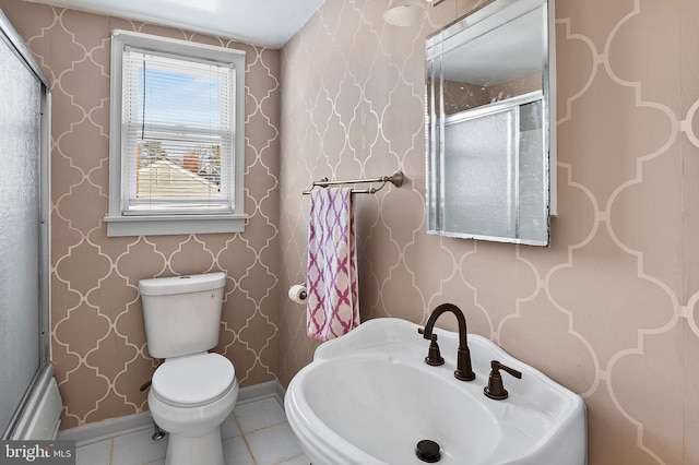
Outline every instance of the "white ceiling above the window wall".
POLYGON ((324 0, 29 0, 281 48, 324 0))

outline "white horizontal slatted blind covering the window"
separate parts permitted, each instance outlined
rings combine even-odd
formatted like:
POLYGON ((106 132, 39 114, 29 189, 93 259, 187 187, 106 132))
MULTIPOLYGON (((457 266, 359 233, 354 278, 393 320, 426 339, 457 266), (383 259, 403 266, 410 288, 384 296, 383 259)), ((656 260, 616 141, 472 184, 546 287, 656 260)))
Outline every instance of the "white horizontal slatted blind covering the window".
POLYGON ((122 214, 234 211, 235 71, 125 47, 122 214))

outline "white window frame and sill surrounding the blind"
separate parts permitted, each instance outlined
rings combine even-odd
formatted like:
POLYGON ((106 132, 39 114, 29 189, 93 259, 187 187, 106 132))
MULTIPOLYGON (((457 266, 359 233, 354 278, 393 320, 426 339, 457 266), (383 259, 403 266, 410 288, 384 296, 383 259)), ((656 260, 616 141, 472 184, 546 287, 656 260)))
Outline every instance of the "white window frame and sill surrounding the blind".
POLYGON ((245 170, 245 51, 115 29, 111 33, 111 108, 109 124, 109 212, 107 236, 159 236, 178 234, 241 233, 245 170), (233 143, 233 212, 225 214, 125 213, 122 206, 122 55, 125 47, 229 63, 236 70, 233 143))

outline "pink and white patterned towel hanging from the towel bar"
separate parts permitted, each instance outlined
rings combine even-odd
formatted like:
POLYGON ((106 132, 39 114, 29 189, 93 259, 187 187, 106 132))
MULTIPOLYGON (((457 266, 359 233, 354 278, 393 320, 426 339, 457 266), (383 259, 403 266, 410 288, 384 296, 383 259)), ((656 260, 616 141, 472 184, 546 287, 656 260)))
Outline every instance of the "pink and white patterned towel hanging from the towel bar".
POLYGON ((352 189, 311 193, 308 228, 308 335, 321 341, 359 325, 352 189))

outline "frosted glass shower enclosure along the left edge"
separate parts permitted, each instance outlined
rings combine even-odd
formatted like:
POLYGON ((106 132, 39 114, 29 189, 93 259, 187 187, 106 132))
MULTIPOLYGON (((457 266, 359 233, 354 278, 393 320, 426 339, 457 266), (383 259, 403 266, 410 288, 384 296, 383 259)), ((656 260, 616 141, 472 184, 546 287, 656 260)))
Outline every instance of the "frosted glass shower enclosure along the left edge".
POLYGON ((55 439, 49 347, 49 94, 0 10, 0 432, 55 439))

